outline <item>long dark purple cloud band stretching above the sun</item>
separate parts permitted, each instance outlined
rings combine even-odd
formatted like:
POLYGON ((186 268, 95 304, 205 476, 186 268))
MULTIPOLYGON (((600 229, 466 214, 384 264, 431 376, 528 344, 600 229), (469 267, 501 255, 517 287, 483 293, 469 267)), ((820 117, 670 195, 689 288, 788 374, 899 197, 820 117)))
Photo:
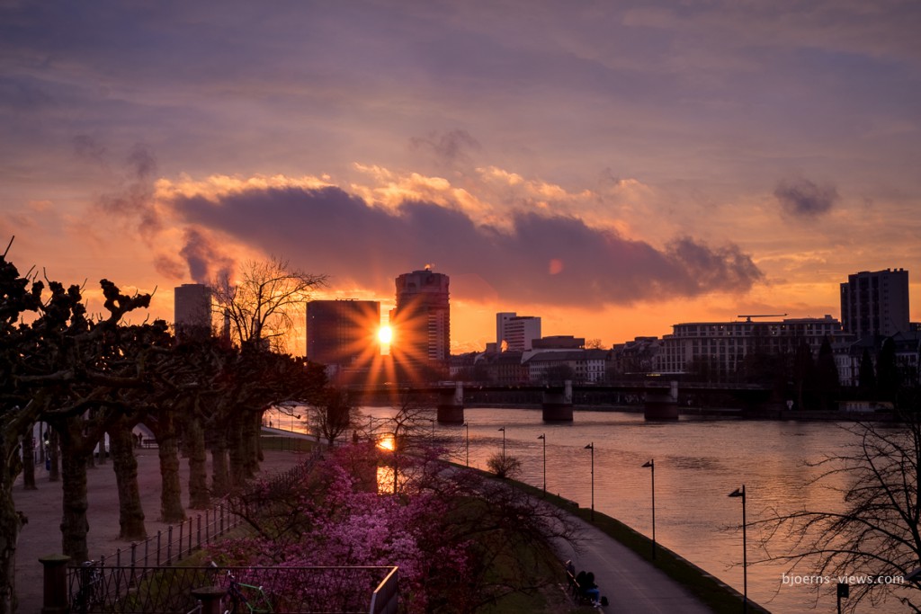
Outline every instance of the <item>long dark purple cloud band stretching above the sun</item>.
MULTIPOLYGON (((333 284, 350 279, 382 293, 392 291, 397 274, 425 262, 448 274, 476 274, 510 302, 579 306, 743 293, 763 277, 735 245, 714 249, 681 237, 657 249, 576 217, 526 212, 511 214, 508 228, 482 226, 432 203, 385 211, 334 187, 251 190, 216 203, 181 198, 172 206, 185 224, 284 255, 332 275, 333 284)), ((196 271, 226 264, 226 255, 199 249, 201 233, 187 237, 198 237, 195 249, 185 250, 196 271)))

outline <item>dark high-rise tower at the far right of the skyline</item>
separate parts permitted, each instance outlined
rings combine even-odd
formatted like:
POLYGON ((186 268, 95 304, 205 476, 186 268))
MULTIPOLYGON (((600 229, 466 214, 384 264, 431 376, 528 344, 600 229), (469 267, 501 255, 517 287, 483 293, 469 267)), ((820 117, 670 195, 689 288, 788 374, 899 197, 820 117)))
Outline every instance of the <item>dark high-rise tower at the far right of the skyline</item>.
POLYGON ((848 275, 841 284, 841 324, 857 339, 908 331, 908 272, 886 269, 848 275))

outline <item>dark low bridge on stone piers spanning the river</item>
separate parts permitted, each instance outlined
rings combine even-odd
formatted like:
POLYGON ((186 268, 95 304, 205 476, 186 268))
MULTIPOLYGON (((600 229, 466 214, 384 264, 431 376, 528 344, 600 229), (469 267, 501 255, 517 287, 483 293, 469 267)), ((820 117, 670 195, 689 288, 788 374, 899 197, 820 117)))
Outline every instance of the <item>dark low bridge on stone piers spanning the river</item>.
POLYGON ((477 384, 461 381, 445 381, 437 384, 414 384, 402 386, 372 386, 353 388, 359 393, 375 396, 431 395, 437 398, 438 423, 461 424, 464 422, 464 406, 468 392, 481 395, 489 392, 540 393, 543 420, 547 422, 572 422, 573 399, 576 393, 611 395, 627 393, 643 400, 647 420, 677 420, 679 393, 723 393, 735 398, 744 398, 755 403, 764 403, 770 390, 757 385, 746 384, 701 384, 677 380, 645 379, 614 384, 577 384, 572 380, 547 384, 477 384))

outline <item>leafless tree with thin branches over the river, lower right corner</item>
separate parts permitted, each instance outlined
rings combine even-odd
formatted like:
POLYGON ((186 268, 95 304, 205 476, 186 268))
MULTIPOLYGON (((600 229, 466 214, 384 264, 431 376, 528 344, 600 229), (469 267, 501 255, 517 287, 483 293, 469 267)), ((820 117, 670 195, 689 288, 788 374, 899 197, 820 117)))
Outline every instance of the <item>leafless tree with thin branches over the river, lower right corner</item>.
POLYGON ((787 561, 789 572, 822 578, 818 590, 850 585, 847 611, 867 601, 898 599, 921 612, 921 411, 917 400, 900 413, 902 423, 847 427, 857 441, 823 458, 815 481, 841 492, 842 511, 802 509, 753 523, 764 529, 764 561, 787 561), (845 480, 845 486, 835 486, 845 480), (790 544, 779 553, 777 541, 790 544), (913 574, 915 572, 915 574, 913 574), (907 579, 906 579, 907 578, 907 579))

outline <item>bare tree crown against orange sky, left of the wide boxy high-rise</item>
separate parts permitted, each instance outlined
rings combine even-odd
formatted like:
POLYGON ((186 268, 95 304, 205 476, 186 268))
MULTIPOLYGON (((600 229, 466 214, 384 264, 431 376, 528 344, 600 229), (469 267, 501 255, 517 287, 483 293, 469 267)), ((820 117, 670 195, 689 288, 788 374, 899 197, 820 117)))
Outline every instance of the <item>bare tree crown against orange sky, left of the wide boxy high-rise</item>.
POLYGON ((212 284, 213 306, 240 345, 284 350, 288 333, 304 318, 310 295, 326 275, 302 272, 280 258, 247 261, 236 279, 225 272, 212 284))

